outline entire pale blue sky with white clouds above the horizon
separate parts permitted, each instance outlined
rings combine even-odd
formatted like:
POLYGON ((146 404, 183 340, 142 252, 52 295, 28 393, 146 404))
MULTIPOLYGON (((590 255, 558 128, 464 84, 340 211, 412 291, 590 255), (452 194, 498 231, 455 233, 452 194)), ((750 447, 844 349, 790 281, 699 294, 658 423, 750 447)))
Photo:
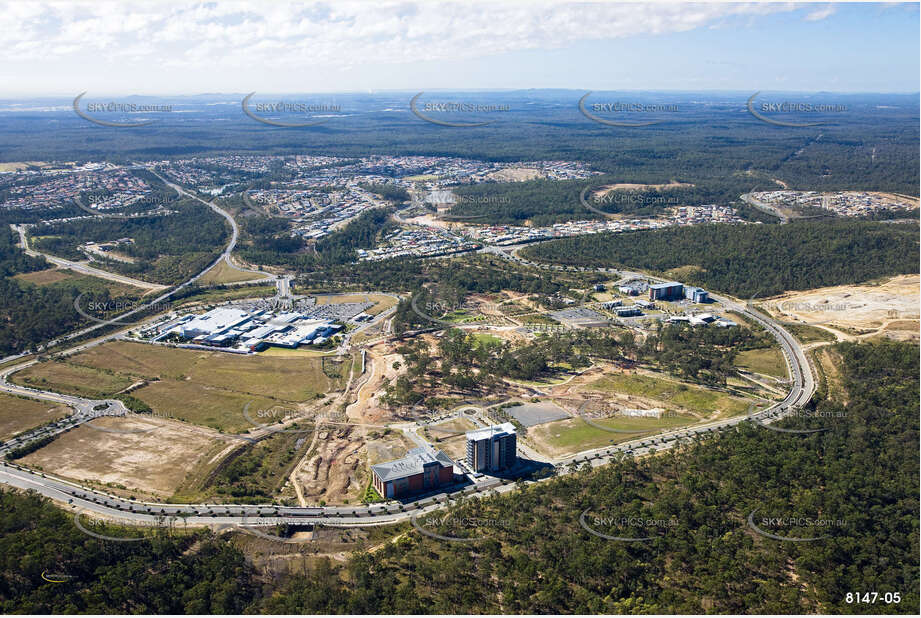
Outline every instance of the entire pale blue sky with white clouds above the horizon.
POLYGON ((918 3, 0 1, 0 96, 918 92, 918 3))

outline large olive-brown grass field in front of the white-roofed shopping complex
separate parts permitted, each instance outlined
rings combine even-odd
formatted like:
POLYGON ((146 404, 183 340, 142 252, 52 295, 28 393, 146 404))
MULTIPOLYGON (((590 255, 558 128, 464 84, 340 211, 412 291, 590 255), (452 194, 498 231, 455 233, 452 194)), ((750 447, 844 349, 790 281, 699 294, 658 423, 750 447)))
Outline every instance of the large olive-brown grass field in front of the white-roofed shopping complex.
POLYGON ((240 356, 127 341, 91 348, 67 362, 38 363, 13 378, 95 398, 147 381, 132 395, 156 413, 227 432, 252 426, 243 416, 249 402, 253 411, 294 407, 343 383, 324 373, 319 357, 240 356))

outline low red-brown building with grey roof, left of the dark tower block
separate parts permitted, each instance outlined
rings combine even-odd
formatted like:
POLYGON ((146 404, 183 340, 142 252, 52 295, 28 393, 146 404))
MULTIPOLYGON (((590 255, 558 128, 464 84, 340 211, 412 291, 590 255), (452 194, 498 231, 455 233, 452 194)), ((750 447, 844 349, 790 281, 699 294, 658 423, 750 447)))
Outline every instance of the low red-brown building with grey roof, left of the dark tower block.
POLYGON ((402 459, 371 466, 374 489, 384 498, 403 498, 451 485, 454 462, 429 446, 414 448, 402 459))

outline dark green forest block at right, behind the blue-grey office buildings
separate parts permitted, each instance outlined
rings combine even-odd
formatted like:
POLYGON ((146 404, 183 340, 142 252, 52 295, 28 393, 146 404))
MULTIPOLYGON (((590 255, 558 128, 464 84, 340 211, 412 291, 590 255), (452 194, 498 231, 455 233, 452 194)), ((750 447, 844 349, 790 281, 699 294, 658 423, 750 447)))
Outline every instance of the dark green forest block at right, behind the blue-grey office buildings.
POLYGON ((739 298, 918 272, 918 225, 853 220, 700 225, 564 238, 525 249, 534 260, 639 268, 739 298))

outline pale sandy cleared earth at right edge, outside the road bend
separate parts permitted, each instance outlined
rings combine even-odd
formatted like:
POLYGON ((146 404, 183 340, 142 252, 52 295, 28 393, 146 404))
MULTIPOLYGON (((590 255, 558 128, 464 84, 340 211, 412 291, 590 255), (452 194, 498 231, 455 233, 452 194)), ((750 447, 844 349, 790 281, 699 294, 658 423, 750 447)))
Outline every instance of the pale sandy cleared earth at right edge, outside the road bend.
POLYGON ((775 315, 853 334, 918 339, 919 275, 901 275, 879 284, 842 285, 791 292, 764 301, 775 315))

